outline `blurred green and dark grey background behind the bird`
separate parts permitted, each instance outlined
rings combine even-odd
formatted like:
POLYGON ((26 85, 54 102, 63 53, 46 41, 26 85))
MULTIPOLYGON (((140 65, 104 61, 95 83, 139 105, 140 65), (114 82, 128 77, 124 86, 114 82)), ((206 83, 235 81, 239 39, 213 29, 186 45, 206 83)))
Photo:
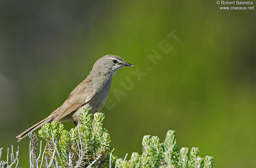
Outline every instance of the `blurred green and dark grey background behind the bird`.
MULTIPOLYGON (((215 167, 254 167, 255 10, 221 11, 216 1, 0 2, 0 146, 47 117, 83 81, 94 62, 119 55, 136 68, 113 78, 105 128, 115 154, 141 152, 143 135, 176 130, 178 147, 199 147, 215 167), (177 42, 167 35, 176 30, 177 42), (158 44, 173 49, 165 54, 158 44), (156 50, 155 65, 147 55, 156 50), (140 81, 132 71, 147 73, 140 81), (152 70, 148 70, 151 67, 152 70), (127 91, 121 82, 134 87, 127 91), (124 92, 116 99, 113 90, 124 92), (112 102, 111 102, 112 101, 112 102)), ((232 5, 233 6, 233 5, 232 5)), ((66 128, 75 125, 65 123, 66 128)))

